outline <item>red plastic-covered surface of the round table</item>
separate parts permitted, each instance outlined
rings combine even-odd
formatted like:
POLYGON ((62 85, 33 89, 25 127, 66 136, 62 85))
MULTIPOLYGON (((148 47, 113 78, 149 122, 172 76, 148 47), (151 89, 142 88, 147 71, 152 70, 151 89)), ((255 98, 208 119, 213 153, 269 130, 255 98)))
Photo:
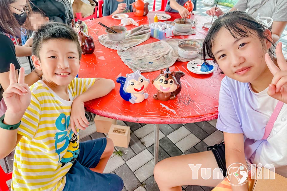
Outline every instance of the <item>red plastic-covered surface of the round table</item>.
MULTIPOLYGON (((155 12, 149 12, 145 17, 135 16, 134 13, 128 14, 130 18, 141 25, 148 24, 149 19, 152 23, 155 12)), ((178 13, 168 14, 171 15, 171 19, 168 21, 180 18, 178 13)), ((207 29, 202 27, 202 24, 207 19, 198 15, 193 15, 191 19, 197 22, 196 34, 174 36, 173 38, 204 38, 207 29)), ((182 71, 185 76, 181 78, 182 90, 175 100, 155 100, 152 96, 157 92, 157 89, 151 83, 145 90, 149 97, 143 102, 131 104, 129 101, 123 100, 119 93, 120 84, 116 82, 116 79, 119 76, 126 77, 126 74, 132 73, 132 70, 123 63, 117 55, 117 50, 109 49, 99 43, 98 36, 106 33, 105 28, 97 24, 99 21, 109 27, 120 24, 120 20, 113 19, 111 16, 85 21, 89 28, 89 35, 94 39, 95 51, 93 54, 83 55, 80 62, 79 77, 109 78, 115 82, 115 89, 107 96, 86 102, 85 106, 88 111, 118 120, 149 124, 193 123, 217 118, 220 83, 224 77, 224 75, 219 74, 217 67, 211 74, 199 75, 187 70, 187 62, 176 61, 170 67, 170 71, 182 71)), ((126 26, 127 30, 134 27, 134 25, 126 26)), ((138 46, 156 41, 158 40, 150 37, 138 46)), ((159 74, 160 71, 142 73, 150 81, 159 74)))

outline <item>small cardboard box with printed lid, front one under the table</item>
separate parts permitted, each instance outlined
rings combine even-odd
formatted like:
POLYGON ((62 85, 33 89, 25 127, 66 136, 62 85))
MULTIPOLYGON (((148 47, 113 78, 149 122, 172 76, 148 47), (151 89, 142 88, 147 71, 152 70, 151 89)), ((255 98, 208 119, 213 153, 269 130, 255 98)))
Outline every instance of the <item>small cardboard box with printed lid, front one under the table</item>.
POLYGON ((131 131, 127 126, 112 124, 109 130, 109 138, 113 140, 116 147, 129 147, 131 140, 131 131))

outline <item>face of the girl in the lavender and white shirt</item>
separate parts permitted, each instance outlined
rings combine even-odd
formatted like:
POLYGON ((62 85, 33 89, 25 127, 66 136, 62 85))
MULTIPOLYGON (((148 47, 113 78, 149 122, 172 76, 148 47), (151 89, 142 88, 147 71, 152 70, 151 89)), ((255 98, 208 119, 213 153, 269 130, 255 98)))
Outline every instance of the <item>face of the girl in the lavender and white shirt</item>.
POLYGON ((263 41, 262 44, 255 31, 249 37, 238 36, 236 39, 222 27, 214 40, 212 53, 226 76, 252 83, 269 70, 264 55, 268 53, 271 43, 265 39, 263 41))

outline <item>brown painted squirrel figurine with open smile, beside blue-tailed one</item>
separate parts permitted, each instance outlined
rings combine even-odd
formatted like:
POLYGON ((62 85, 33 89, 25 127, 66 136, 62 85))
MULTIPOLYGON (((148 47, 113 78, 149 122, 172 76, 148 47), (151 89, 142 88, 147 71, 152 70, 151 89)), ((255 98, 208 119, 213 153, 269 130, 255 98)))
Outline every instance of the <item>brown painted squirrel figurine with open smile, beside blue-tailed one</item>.
POLYGON ((170 72, 168 67, 166 71, 161 70, 161 74, 152 80, 152 84, 158 89, 153 98, 161 101, 175 99, 175 96, 181 91, 180 78, 182 76, 184 76, 183 72, 170 72))

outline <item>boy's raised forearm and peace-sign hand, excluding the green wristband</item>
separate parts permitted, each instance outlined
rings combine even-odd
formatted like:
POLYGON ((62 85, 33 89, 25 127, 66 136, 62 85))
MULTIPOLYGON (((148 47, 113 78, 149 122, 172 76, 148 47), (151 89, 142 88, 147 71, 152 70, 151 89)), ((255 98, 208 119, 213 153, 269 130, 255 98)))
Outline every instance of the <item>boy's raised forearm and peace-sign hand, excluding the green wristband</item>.
MULTIPOLYGON (((3 93, 3 98, 7 106, 3 123, 7 125, 18 124, 31 102, 29 86, 28 84, 24 84, 24 68, 20 69, 18 83, 14 71, 14 64, 10 64, 10 86, 3 93)), ((2 145, 0 158, 9 155, 22 138, 22 135, 17 134, 17 132, 17 129, 3 129, 0 124, 0 144, 2 145)))

